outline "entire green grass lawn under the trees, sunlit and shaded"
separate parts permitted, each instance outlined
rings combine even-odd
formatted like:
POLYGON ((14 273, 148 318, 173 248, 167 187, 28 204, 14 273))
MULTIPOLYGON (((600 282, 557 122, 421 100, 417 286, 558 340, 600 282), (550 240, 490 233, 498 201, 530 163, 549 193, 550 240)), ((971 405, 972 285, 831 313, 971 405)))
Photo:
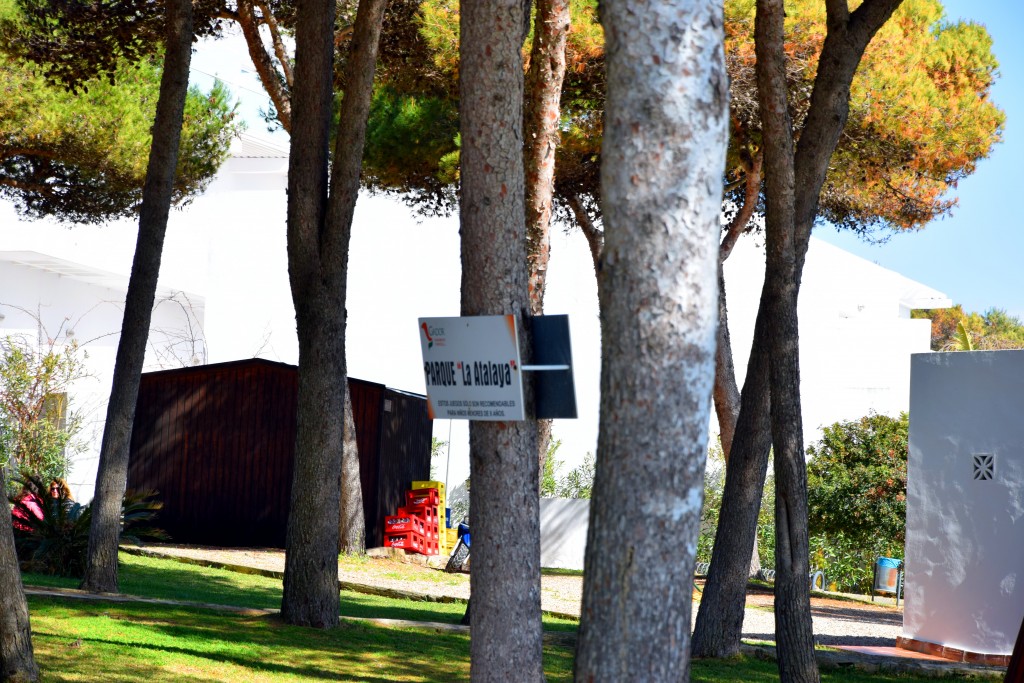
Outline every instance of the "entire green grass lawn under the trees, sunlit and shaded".
MULTIPOLYGON (((264 577, 122 554, 121 588, 130 595, 239 607, 276 608, 281 582, 264 577)), ((74 580, 26 574, 27 585, 74 588, 74 580)), ((462 681, 469 678, 469 636, 432 629, 345 622, 318 631, 275 615, 193 606, 32 597, 33 642, 46 681, 462 681)), ((342 593, 342 615, 458 622, 461 604, 342 593)), ((545 620, 548 630, 574 630, 545 620)), ((549 681, 571 680, 573 651, 545 647, 549 681)), ((774 663, 700 660, 691 679, 777 681, 774 663)), ((895 683, 921 677, 824 670, 827 683, 895 683)))

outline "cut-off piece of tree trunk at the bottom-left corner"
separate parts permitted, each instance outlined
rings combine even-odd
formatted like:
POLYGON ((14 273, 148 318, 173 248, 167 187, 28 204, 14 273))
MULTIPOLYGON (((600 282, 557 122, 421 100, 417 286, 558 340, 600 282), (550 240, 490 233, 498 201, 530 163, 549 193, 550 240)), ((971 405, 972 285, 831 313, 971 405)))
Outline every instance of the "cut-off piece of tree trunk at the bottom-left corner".
MULTIPOLYGON (((6 467, 3 468, 4 470, 6 467)), ((3 490, 7 477, 0 476, 3 490)), ((29 605, 22 588, 22 571, 14 552, 10 506, 0 505, 0 681, 37 681, 39 669, 32 651, 29 605)))

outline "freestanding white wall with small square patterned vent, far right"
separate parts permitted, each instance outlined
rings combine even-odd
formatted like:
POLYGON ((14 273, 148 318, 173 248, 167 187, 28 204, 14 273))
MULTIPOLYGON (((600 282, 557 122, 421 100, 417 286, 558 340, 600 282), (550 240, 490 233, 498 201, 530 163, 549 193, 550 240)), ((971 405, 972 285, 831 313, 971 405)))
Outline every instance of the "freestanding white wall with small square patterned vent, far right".
POLYGON ((1024 617, 1022 404, 1024 351, 912 357, 904 637, 1013 651, 1024 617))

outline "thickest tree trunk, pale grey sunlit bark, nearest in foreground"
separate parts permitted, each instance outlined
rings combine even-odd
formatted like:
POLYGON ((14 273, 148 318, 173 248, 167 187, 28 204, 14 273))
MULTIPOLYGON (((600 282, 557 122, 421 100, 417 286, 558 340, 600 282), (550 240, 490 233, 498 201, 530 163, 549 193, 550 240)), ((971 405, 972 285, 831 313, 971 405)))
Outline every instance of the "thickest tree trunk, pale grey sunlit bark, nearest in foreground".
POLYGON ((688 678, 718 321, 722 22, 711 0, 602 5, 601 424, 578 681, 688 678))

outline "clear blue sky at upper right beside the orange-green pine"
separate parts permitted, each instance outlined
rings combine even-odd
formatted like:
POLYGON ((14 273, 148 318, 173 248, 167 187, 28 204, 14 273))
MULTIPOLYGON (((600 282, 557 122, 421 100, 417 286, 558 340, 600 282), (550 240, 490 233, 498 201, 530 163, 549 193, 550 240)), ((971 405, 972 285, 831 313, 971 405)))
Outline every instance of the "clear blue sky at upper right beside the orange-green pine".
POLYGON ((924 229, 868 245, 830 226, 815 234, 879 265, 944 292, 967 310, 1002 308, 1024 319, 1024 233, 1016 199, 1024 196, 1024 2, 946 0, 949 19, 984 25, 999 61, 992 98, 1007 114, 1000 144, 959 183, 959 206, 924 229))

